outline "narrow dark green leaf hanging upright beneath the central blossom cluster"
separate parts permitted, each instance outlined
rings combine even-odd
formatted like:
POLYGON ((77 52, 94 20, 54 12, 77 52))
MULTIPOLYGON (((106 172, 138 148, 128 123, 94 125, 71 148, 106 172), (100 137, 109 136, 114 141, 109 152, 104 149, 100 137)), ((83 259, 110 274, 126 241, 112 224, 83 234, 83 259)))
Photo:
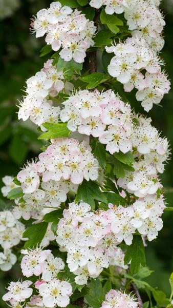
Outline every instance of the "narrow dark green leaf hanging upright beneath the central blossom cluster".
POLYGON ((104 145, 101 144, 97 139, 93 139, 92 144, 92 151, 94 153, 95 158, 97 158, 99 165, 102 168, 106 166, 106 151, 104 145))

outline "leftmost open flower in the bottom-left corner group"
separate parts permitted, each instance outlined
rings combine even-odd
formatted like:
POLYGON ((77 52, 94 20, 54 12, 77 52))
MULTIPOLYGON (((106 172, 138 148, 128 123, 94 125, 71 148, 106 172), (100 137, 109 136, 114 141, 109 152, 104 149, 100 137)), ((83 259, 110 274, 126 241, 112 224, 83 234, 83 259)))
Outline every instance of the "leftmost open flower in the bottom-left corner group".
POLYGON ((10 285, 7 287, 8 292, 3 296, 3 300, 25 301, 26 298, 32 295, 32 288, 29 287, 31 284, 32 281, 30 280, 10 282, 10 285))

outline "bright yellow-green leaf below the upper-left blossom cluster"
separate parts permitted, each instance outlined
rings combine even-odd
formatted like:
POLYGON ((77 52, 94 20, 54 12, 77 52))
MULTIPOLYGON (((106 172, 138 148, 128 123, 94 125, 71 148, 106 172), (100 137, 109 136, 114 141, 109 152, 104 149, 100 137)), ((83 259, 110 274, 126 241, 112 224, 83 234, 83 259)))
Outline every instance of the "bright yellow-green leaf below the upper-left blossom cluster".
POLYGON ((42 133, 38 139, 54 139, 54 138, 62 138, 68 137, 70 134, 70 130, 67 128, 67 123, 44 123, 42 124, 49 131, 42 133))

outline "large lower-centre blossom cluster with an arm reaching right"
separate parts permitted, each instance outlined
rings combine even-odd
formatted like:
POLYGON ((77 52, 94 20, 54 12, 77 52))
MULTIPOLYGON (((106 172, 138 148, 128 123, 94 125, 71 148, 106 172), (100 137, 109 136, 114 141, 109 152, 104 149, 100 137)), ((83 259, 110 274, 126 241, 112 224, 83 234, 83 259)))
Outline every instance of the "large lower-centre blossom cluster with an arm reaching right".
POLYGON ((103 268, 116 265, 124 269, 124 253, 117 247, 123 240, 132 244, 138 230, 151 241, 162 228, 159 216, 163 213, 163 197, 152 195, 140 198, 133 205, 123 207, 109 204, 108 210, 91 211, 87 203, 70 203, 63 210, 57 226, 57 243, 67 251, 67 263, 77 284, 96 278, 103 268))

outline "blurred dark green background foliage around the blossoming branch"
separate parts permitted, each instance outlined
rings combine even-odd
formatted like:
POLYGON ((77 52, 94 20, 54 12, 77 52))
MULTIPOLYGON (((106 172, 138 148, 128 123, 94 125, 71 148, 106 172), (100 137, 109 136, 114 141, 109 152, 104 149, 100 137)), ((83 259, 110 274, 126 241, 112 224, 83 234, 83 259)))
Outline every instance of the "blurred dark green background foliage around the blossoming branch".
MULTIPOLYGON (((15 176, 19 167, 26 160, 37 156, 42 145, 37 140, 37 131, 32 122, 17 120, 17 101, 24 94, 25 81, 34 75, 45 62, 39 57, 39 50, 44 46, 44 39, 36 40, 35 35, 29 31, 30 18, 39 9, 50 5, 48 0, 0 0, 0 186, 5 175, 15 176), (6 18, 4 18, 4 16, 6 18)), ((165 14, 166 27, 164 29, 165 46, 162 57, 165 61, 165 70, 169 78, 173 78, 173 1, 163 0, 161 8, 165 14)), ((133 102, 136 111, 143 112, 138 102, 134 102, 133 93, 129 99, 133 102)), ((164 96, 162 106, 154 106, 149 116, 153 124, 162 131, 173 147, 173 89, 164 96)), ((169 206, 173 200, 173 162, 169 161, 164 174, 161 176, 165 187, 165 198, 169 206)), ((8 201, 0 196, 1 208, 8 201)), ((163 215, 164 227, 159 237, 152 243, 147 243, 147 265, 152 269, 152 274, 147 281, 158 286, 168 296, 169 275, 173 271, 173 212, 163 215)), ((6 304, 2 301, 5 286, 8 282, 20 277, 19 267, 12 268, 7 274, 0 273, 0 307, 6 304)))

